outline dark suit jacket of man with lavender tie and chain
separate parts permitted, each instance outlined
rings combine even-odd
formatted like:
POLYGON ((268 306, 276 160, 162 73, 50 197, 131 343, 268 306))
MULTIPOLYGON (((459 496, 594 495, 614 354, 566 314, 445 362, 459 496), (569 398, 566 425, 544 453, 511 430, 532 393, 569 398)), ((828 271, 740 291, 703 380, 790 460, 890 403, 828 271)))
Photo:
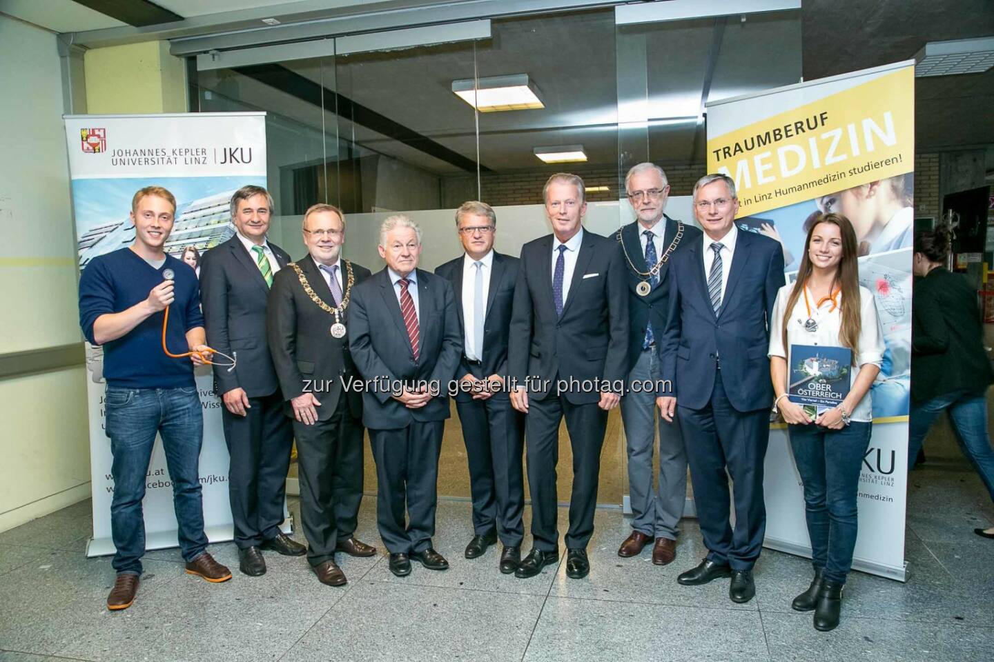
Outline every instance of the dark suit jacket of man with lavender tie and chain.
MULTIPOLYGON (((332 308, 335 300, 328 289, 328 283, 317 268, 314 259, 307 255, 297 264, 310 283, 311 289, 332 308)), ((342 269, 342 291, 348 284, 348 272, 344 261, 340 262, 342 269)), ((352 289, 352 299, 359 284, 370 277, 370 270, 352 263, 352 273, 355 283, 352 289)), ((345 337, 337 338, 331 334, 331 326, 335 324, 335 316, 315 304, 304 292, 300 279, 293 269, 282 269, 276 274, 269 291, 269 313, 266 330, 269 337, 269 348, 272 351, 272 362, 276 366, 279 385, 283 390, 283 399, 287 401, 286 413, 293 416, 289 400, 302 395, 305 390, 314 393, 321 403, 317 407, 318 419, 327 421, 338 407, 338 399, 343 397, 343 381, 350 378, 358 379, 356 366, 349 354, 349 335, 352 334, 352 309, 350 303, 341 318, 342 324, 348 331, 345 337)), ((348 391, 345 395, 349 402, 349 411, 356 418, 362 416, 362 396, 358 391, 348 391)))

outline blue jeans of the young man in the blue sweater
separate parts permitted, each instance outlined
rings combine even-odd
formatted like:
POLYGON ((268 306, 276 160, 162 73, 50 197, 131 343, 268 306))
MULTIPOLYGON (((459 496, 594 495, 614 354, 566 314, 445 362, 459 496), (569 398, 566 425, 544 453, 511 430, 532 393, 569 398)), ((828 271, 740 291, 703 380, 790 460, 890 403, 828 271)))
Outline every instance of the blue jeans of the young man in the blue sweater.
POLYGON ((162 435, 172 480, 180 550, 186 561, 193 561, 207 547, 199 472, 204 412, 197 388, 107 386, 103 401, 113 455, 110 531, 117 548, 114 570, 141 575, 141 557, 145 553, 141 501, 156 433, 162 435))

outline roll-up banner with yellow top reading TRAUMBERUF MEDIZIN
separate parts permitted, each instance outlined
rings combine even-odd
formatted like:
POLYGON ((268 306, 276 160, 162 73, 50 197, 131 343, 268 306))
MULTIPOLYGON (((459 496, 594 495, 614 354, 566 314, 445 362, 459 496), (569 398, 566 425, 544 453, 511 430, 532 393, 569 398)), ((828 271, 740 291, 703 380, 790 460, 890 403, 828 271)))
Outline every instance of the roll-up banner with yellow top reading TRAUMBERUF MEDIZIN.
MULTIPOLYGON (((783 247, 796 278, 808 225, 840 212, 856 230, 860 285, 873 292, 887 350, 869 397, 873 436, 859 483, 853 567, 904 581, 911 394, 913 63, 880 66, 708 104, 708 172, 736 181, 737 226, 783 247)), ((811 556, 787 431, 771 426, 765 546, 811 556)))

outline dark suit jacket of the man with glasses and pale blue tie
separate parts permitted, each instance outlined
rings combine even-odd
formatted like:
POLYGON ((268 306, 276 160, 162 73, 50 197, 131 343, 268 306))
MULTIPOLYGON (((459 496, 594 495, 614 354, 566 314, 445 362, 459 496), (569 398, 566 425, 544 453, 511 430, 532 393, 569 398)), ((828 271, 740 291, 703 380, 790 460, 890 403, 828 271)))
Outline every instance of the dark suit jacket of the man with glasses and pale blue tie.
MULTIPOLYGON (((435 269, 435 274, 452 284, 452 294, 455 297, 455 315, 459 321, 459 336, 465 341, 466 329, 463 324, 462 311, 462 267, 464 255, 450 260, 435 269)), ((514 303, 514 284, 518 280, 518 265, 520 260, 509 255, 501 255, 494 251, 494 259, 490 273, 490 287, 487 290, 487 305, 483 322, 483 365, 478 377, 489 377, 499 374, 507 377, 507 338, 511 326, 511 306, 514 303)), ((455 371, 456 379, 467 372, 474 373, 466 362, 465 347, 455 371)), ((507 399, 507 390, 494 393, 495 398, 507 399)), ((472 394, 460 391, 455 399, 468 402, 472 394)))

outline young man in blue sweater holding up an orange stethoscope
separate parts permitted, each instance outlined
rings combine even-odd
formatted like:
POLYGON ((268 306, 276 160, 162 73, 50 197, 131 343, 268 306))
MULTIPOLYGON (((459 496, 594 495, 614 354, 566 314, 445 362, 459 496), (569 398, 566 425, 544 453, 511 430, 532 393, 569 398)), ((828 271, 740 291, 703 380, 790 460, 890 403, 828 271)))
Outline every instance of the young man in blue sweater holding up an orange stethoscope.
POLYGON ((205 551, 204 511, 199 475, 203 409, 193 377, 194 364, 210 352, 196 273, 163 250, 173 228, 176 199, 161 187, 146 187, 131 200, 134 243, 100 255, 80 279, 80 326, 86 339, 103 345, 106 434, 113 455, 114 496, 110 528, 114 546, 114 587, 108 609, 131 605, 138 590, 145 552, 141 501, 155 435, 162 435, 179 543, 186 571, 208 582, 225 582, 231 572, 205 551), (167 270, 172 278, 166 279, 167 270), (169 308, 166 344, 162 324, 169 308))

